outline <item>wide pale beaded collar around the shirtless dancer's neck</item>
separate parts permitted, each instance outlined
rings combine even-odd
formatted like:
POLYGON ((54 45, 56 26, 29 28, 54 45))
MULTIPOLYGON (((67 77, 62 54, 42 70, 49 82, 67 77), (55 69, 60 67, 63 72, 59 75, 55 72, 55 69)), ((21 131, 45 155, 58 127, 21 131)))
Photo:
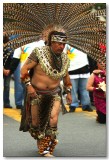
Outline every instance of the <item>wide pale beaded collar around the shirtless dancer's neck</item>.
POLYGON ((67 54, 65 54, 64 52, 61 54, 63 65, 61 67, 61 71, 59 72, 57 69, 53 68, 52 64, 53 60, 49 46, 44 46, 42 48, 35 48, 34 52, 40 62, 41 68, 46 73, 46 75, 50 76, 55 80, 60 79, 66 75, 68 67, 70 65, 70 60, 68 59, 67 54))

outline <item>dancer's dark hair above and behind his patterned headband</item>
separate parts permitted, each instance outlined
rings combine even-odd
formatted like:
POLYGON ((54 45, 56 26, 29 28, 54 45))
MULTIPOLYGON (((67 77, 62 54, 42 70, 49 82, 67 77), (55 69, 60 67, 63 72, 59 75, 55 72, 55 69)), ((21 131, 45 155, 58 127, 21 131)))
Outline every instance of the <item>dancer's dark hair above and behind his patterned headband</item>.
POLYGON ((52 31, 48 35, 48 46, 51 46, 51 38, 52 38, 53 35, 54 36, 57 35, 57 36, 60 36, 60 37, 62 36, 62 37, 67 38, 67 36, 64 32, 52 31))

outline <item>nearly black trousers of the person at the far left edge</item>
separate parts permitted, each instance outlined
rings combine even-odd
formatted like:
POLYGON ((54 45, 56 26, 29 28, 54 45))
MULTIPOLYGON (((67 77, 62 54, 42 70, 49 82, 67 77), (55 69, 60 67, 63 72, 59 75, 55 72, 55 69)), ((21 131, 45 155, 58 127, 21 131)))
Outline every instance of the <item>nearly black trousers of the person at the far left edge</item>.
POLYGON ((4 106, 10 106, 10 80, 11 75, 9 76, 3 76, 4 79, 4 90, 3 90, 3 105, 4 106))

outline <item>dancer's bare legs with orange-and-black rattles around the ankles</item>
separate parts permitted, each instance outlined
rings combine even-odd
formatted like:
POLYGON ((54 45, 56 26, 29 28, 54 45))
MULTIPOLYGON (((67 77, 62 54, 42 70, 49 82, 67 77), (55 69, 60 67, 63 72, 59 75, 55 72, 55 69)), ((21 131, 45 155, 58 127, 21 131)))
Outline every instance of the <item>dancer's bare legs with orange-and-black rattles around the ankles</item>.
MULTIPOLYGON (((60 97, 59 97, 60 98, 60 97)), ((40 122, 40 107, 38 105, 31 106, 31 118, 32 123, 30 126, 30 134, 34 139, 37 139, 37 145, 39 153, 43 156, 51 157, 53 149, 57 144, 57 122, 60 112, 60 100, 53 103, 53 108, 51 111, 49 124, 45 127, 45 131, 41 133, 41 128, 39 128, 40 122), (48 153, 48 154, 47 154, 48 153)))

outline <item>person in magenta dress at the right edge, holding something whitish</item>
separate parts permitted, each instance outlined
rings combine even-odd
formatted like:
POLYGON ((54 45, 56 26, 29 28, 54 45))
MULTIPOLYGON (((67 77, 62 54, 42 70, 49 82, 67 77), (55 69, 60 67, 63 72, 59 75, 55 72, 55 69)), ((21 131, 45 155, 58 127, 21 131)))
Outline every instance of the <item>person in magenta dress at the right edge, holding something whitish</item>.
POLYGON ((98 63, 98 69, 90 75, 86 88, 88 91, 93 92, 97 113, 96 120, 99 123, 106 123, 106 71, 103 64, 98 63))

